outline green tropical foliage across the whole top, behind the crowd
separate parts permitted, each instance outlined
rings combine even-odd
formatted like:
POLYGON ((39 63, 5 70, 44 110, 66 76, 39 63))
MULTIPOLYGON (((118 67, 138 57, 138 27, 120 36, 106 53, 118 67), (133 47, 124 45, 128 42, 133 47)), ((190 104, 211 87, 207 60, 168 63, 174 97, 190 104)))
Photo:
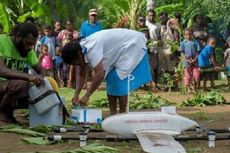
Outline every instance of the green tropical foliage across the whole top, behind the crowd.
POLYGON ((182 13, 187 22, 195 14, 202 13, 216 21, 222 29, 230 20, 229 0, 1 0, 0 23, 8 32, 15 23, 24 22, 27 16, 41 23, 72 19, 76 28, 88 16, 90 8, 99 10, 99 19, 105 28, 128 19, 128 27, 135 29, 138 16, 146 13, 146 4, 154 4, 157 13, 182 13), (204 9, 205 8, 205 9, 204 9))

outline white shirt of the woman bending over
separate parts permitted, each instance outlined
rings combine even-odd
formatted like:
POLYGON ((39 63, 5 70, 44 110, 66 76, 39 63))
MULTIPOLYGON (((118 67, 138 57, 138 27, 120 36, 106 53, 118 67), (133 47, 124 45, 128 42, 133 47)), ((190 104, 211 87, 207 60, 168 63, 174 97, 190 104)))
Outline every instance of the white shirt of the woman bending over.
POLYGON ((101 60, 105 77, 115 68, 121 80, 126 78, 144 57, 145 35, 129 29, 107 29, 81 40, 83 53, 91 67, 101 60))

